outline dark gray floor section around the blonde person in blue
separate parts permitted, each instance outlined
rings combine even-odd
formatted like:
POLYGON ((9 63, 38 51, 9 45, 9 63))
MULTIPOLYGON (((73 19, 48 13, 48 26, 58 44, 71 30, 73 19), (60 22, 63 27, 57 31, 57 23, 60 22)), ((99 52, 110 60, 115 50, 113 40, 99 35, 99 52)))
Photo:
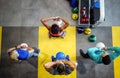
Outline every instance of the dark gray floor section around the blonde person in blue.
POLYGON ((11 61, 5 52, 21 42, 37 47, 37 32, 36 27, 3 27, 0 78, 37 78, 37 57, 18 63, 11 61))

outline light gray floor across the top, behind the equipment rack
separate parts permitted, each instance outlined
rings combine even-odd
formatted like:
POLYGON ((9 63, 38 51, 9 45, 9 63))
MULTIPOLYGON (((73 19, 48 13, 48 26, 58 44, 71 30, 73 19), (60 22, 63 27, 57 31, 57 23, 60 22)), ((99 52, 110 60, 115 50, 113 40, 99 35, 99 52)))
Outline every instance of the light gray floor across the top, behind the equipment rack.
MULTIPOLYGON (((105 0, 105 22, 100 26, 120 25, 120 0, 105 0)), ((70 0, 0 0, 0 25, 40 26, 40 19, 61 16, 77 25, 71 19, 70 0)))

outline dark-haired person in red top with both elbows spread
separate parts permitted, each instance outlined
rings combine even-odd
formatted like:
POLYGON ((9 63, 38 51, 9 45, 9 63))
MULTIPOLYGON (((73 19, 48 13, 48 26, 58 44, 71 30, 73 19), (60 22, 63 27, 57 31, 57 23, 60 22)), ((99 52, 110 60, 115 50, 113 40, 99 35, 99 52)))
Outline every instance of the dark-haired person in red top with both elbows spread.
POLYGON ((42 24, 49 30, 49 38, 62 37, 64 38, 66 32, 63 31, 69 26, 69 22, 61 17, 47 17, 41 19, 42 24), (53 20, 53 24, 50 25, 47 22, 53 20))

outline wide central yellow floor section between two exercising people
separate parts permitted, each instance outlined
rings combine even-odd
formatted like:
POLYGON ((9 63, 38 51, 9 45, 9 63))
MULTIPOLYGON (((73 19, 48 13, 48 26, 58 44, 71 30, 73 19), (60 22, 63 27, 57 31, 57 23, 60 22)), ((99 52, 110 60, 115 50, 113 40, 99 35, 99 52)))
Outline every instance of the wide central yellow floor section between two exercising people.
POLYGON ((71 61, 76 61, 76 29, 70 26, 66 29, 65 38, 48 37, 48 30, 44 26, 39 27, 38 47, 41 50, 38 57, 38 78, 76 78, 76 70, 70 75, 51 75, 43 65, 51 61, 51 56, 62 51, 70 56, 71 61))

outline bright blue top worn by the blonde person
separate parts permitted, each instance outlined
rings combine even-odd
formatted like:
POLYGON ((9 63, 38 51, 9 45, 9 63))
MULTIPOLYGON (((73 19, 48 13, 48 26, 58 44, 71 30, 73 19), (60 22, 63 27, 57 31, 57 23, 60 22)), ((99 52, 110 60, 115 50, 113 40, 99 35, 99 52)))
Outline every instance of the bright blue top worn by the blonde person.
POLYGON ((18 56, 19 60, 26 60, 28 58, 28 55, 29 55, 28 50, 17 49, 17 52, 19 54, 18 56))

